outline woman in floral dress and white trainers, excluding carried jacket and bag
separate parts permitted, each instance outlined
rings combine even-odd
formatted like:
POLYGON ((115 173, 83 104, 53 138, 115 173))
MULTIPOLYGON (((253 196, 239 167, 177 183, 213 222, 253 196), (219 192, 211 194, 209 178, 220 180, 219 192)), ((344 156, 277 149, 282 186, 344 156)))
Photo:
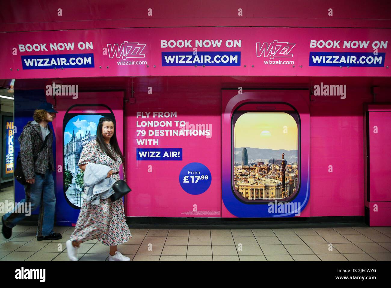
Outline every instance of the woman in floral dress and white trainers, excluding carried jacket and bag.
MULTIPOLYGON (((107 178, 119 180, 118 172, 123 161, 124 156, 118 146, 113 120, 100 118, 97 139, 84 145, 78 163, 79 168, 85 170, 88 163, 106 165, 111 168, 107 178)), ((80 244, 98 238, 104 245, 110 246, 109 261, 130 261, 129 257, 118 252, 117 245, 129 241, 131 237, 122 199, 112 202, 110 198, 100 198, 98 205, 84 199, 75 231, 66 242, 68 257, 72 261, 77 261, 77 249, 80 244)))

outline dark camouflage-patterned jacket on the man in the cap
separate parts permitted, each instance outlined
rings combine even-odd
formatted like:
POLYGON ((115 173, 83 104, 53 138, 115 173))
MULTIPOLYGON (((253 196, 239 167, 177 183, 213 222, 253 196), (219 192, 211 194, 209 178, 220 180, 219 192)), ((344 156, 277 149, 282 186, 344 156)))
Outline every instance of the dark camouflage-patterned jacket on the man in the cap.
POLYGON ((27 122, 27 125, 23 127, 22 134, 20 134, 18 138, 18 141, 20 143, 19 155, 22 160, 22 170, 26 179, 35 178, 34 172, 37 174, 45 174, 46 170, 49 168, 49 164, 52 167, 52 172, 54 171, 52 150, 53 132, 50 130, 49 125, 48 129, 50 133, 46 136, 48 137, 46 147, 38 155, 35 165, 34 156, 38 154, 39 150, 43 145, 42 131, 39 127, 39 124, 35 121, 27 122), (40 137, 41 139, 39 139, 38 137, 40 137))

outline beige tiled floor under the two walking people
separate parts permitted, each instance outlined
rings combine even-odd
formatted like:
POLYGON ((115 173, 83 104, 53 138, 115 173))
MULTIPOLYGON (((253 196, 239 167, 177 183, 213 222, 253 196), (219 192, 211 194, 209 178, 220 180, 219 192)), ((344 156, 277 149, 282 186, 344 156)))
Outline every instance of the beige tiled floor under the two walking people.
MULTIPOLYGON (((13 187, 0 202, 13 200, 13 187)), ((2 216, 3 214, 0 214, 2 216)), ((0 223, 1 225, 1 223, 0 223)), ((55 227, 63 239, 37 241, 36 227, 0 234, 0 261, 69 261, 65 242, 74 228, 55 227)), ((118 250, 131 261, 391 261, 391 227, 292 229, 133 229, 118 250)), ((79 261, 107 261, 97 239, 79 249, 79 261)))

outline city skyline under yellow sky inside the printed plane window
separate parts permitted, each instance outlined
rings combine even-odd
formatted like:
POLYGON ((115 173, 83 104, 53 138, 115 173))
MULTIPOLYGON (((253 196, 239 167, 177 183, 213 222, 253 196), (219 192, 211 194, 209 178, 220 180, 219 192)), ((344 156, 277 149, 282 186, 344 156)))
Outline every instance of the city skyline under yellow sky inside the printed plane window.
POLYGON ((285 199, 298 187, 298 127, 285 112, 246 112, 234 128, 236 193, 248 201, 285 199))

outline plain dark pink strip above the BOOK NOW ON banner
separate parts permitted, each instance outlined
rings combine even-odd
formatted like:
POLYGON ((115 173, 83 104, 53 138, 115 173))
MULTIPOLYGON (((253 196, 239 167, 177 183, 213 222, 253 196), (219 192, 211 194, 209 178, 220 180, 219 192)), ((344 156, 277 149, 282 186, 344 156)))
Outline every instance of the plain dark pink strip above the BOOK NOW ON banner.
POLYGON ((389 11, 389 0, 5 0, 0 32, 208 26, 390 28, 389 11))

